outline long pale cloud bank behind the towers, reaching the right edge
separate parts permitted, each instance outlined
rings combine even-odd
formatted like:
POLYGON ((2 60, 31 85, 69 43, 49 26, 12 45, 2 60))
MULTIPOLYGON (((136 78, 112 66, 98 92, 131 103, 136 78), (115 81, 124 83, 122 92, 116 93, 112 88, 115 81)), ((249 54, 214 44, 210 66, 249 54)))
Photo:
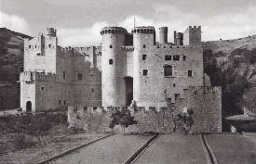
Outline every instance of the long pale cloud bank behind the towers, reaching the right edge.
MULTIPOLYGON (((168 41, 173 41, 173 31, 183 32, 190 25, 202 26, 202 40, 233 39, 256 34, 256 6, 250 5, 243 11, 225 12, 210 16, 202 16, 188 11, 182 11, 176 6, 155 4, 152 11, 154 17, 145 18, 140 15, 130 15, 126 19, 116 22, 114 26, 121 26, 131 31, 134 26, 155 26, 156 40, 158 28, 168 26, 168 41)), ((86 46, 101 43, 101 28, 109 26, 109 22, 96 22, 91 27, 81 29, 59 29, 61 45, 86 46)))

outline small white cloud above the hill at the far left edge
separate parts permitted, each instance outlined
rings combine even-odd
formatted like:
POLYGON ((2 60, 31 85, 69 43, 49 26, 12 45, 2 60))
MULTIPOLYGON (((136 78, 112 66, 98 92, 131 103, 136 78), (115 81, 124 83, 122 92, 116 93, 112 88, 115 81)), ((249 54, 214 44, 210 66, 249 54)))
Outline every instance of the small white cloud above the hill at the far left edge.
POLYGON ((15 32, 31 34, 28 22, 18 15, 8 15, 0 11, 0 27, 6 27, 15 32))

